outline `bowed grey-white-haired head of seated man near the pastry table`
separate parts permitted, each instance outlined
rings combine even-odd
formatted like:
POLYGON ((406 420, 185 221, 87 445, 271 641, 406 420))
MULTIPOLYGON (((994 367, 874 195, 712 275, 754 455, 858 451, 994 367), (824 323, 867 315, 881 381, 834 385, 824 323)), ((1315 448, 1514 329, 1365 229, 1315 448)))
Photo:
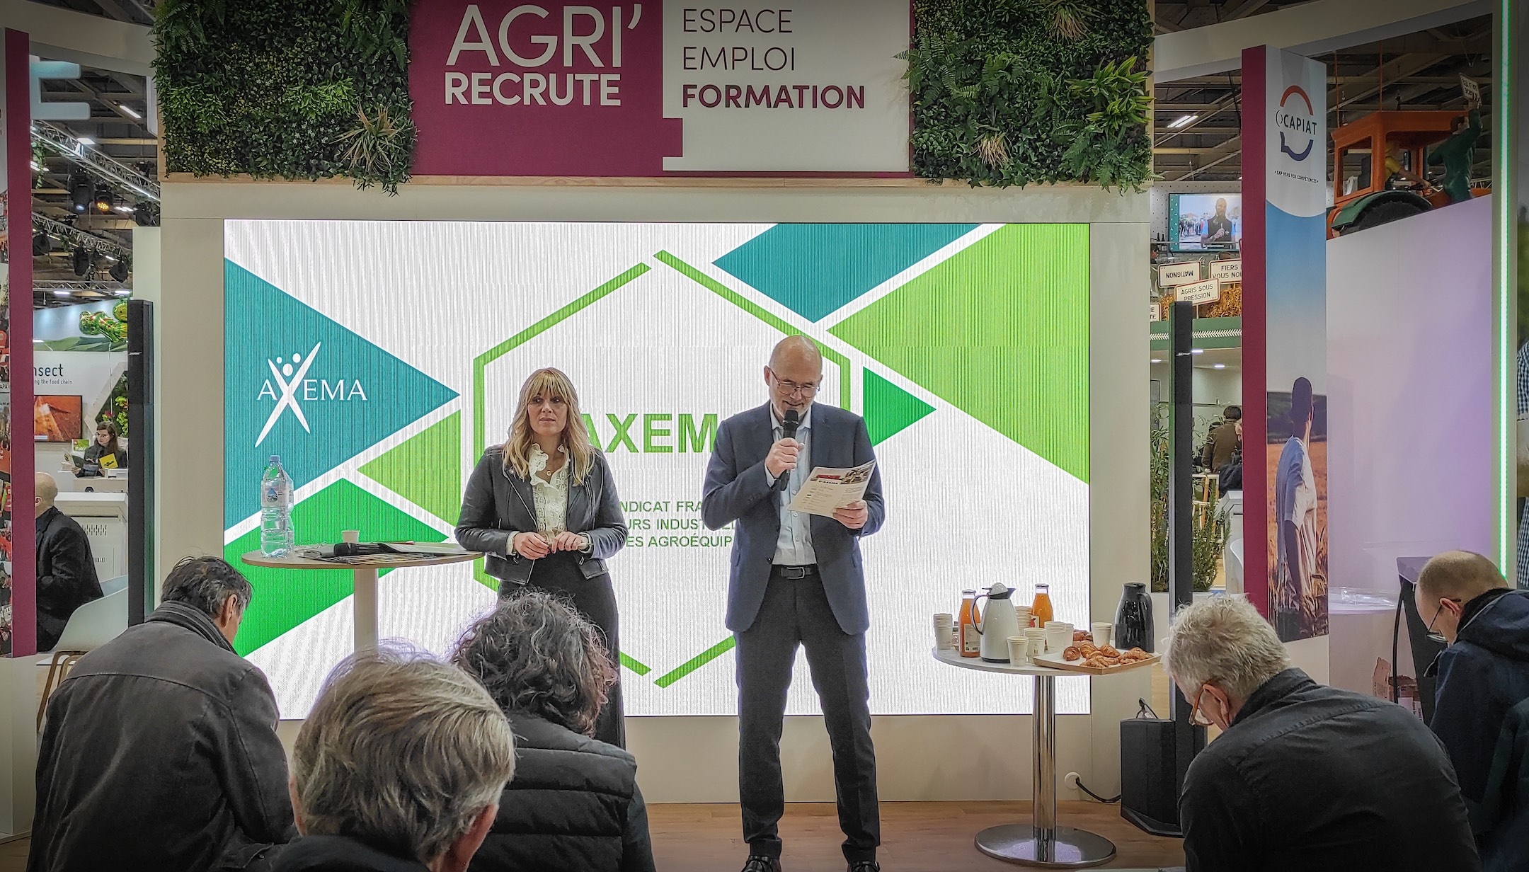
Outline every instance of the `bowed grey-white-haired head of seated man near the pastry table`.
POLYGON ((1248 600, 1223 595, 1179 612, 1164 669, 1190 705, 1225 730, 1263 682, 1290 669, 1290 658, 1248 600))

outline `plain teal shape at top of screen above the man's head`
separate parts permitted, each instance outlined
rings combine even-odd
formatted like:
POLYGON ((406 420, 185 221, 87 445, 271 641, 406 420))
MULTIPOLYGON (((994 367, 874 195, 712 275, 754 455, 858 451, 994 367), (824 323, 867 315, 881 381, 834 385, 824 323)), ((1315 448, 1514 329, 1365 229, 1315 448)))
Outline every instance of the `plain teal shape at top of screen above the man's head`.
POLYGON ((810 321, 966 236, 974 223, 778 223, 716 260, 810 321))

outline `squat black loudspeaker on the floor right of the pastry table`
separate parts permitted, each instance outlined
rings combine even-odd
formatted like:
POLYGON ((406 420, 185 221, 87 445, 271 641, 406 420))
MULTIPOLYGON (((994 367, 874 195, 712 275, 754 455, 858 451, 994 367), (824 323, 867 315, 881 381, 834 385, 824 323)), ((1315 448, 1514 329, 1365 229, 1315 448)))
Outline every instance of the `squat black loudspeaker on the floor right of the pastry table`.
MULTIPOLYGON (((1157 717, 1121 721, 1121 817, 1153 835, 1182 837, 1174 750, 1176 724, 1157 717)), ((1205 730, 1193 731, 1191 757, 1205 750, 1205 730)))

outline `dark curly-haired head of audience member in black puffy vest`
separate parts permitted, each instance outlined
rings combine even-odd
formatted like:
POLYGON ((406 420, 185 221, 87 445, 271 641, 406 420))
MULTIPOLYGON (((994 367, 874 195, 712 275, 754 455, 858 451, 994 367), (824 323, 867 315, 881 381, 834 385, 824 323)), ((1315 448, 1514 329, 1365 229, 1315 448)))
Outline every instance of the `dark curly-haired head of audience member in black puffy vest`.
POLYGON ((505 713, 520 711, 593 736, 616 681, 599 630, 541 592, 500 601, 457 643, 453 662, 488 688, 505 713))

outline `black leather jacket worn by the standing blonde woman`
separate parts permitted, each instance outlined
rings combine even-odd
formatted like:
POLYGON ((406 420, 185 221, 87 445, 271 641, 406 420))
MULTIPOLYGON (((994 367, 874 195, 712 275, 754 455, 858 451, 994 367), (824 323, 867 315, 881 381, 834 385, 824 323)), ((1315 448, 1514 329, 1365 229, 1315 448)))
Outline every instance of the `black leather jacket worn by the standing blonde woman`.
MULTIPOLYGON (((535 560, 512 552, 509 542, 517 532, 537 529, 535 505, 531 482, 506 470, 503 448, 494 445, 483 451, 483 459, 468 477, 457 543, 468 551, 485 552, 485 571, 494 578, 524 584, 531 580, 535 560)), ((616 482, 599 451, 584 482, 569 485, 567 528, 587 534, 593 545, 589 554, 579 555, 586 578, 604 575, 605 558, 627 545, 627 519, 621 514, 616 482)))

